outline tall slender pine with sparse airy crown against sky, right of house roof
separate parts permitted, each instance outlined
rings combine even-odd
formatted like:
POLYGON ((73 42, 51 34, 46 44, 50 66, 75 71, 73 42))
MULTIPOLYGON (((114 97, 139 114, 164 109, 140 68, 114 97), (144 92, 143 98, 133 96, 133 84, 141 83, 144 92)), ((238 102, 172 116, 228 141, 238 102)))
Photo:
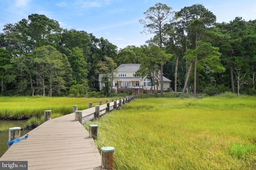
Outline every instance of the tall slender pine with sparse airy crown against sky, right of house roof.
MULTIPOLYGON (((144 19, 139 20, 140 23, 144 25, 144 31, 142 33, 155 34, 153 39, 148 41, 149 43, 154 43, 162 49, 164 37, 166 32, 165 24, 170 23, 173 20, 174 12, 171 7, 166 4, 157 3, 155 6, 150 7, 146 12, 144 19)), ((163 96, 163 65, 165 63, 164 57, 160 61, 160 72, 161 72, 161 96, 163 96)))

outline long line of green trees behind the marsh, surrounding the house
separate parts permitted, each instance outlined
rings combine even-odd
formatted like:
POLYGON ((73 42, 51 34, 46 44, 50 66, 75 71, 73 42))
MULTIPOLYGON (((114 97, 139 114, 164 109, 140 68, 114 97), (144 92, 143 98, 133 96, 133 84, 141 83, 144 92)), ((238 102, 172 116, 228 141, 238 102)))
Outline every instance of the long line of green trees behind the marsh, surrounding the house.
POLYGON ((174 12, 157 3, 144 15, 139 20, 145 28, 142 33, 154 37, 147 45, 119 50, 103 37, 63 29, 44 15, 31 14, 4 25, 1 95, 68 96, 98 91, 98 74, 110 74, 122 63, 140 63, 140 74, 145 75, 160 70, 161 78, 172 80, 175 93, 256 94, 256 20, 236 17, 216 23, 216 16, 202 4, 174 12))

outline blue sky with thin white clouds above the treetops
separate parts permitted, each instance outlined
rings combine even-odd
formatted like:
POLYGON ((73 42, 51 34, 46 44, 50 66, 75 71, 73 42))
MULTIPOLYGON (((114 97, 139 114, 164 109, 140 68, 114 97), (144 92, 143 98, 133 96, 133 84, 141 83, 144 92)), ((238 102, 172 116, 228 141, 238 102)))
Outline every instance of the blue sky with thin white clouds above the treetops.
POLYGON ((229 22, 237 16, 246 21, 256 19, 255 0, 0 0, 0 32, 7 23, 43 14, 59 21, 62 28, 92 33, 118 48, 140 46, 152 35, 140 33, 143 25, 138 20, 158 2, 174 11, 202 4, 216 15, 217 22, 229 22))

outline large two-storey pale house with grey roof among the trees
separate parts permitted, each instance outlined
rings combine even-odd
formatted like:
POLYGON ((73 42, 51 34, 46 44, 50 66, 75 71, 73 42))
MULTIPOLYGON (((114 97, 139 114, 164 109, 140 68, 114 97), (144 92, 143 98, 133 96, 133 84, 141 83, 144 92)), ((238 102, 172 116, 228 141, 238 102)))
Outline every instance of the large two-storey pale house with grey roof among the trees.
MULTIPOLYGON (((150 93, 151 83, 146 77, 136 77, 135 72, 140 68, 140 64, 121 64, 115 70, 113 89, 116 92, 124 92, 127 89, 131 89, 133 93, 150 93)), ((98 81, 100 82, 100 90, 104 86, 101 82, 101 78, 104 74, 99 74, 98 81)), ((155 79, 158 83, 155 84, 157 92, 161 90, 161 78, 160 72, 155 75, 155 79)), ((171 91, 170 83, 172 81, 163 76, 164 91, 171 91)), ((154 87, 153 87, 154 90, 154 87)))

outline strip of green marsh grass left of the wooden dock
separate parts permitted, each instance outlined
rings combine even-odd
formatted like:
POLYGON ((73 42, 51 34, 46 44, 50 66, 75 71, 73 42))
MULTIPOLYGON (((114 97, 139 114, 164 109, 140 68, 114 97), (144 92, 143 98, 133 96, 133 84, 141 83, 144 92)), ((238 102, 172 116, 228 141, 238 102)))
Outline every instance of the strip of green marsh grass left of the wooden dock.
MULTIPOLYGON (((42 116, 45 110, 52 110, 52 118, 73 112, 73 105, 78 105, 78 110, 103 104, 109 98, 65 98, 65 97, 0 97, 0 116, 22 117, 42 116)), ((111 101, 111 99, 109 99, 111 101)))

